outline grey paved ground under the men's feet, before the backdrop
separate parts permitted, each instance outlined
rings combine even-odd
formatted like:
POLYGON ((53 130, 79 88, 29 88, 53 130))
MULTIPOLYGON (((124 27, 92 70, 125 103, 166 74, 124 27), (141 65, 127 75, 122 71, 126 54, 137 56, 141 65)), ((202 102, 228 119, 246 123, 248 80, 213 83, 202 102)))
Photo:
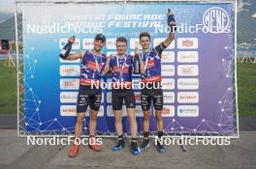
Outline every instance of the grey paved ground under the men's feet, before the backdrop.
MULTIPOLYGON (((68 157, 70 146, 27 146, 25 138, 17 138, 16 130, 0 129, 1 169, 255 169, 256 131, 241 131, 240 139, 230 146, 166 146, 159 154, 153 146, 142 155, 132 155, 130 140, 120 152, 112 152, 115 139, 104 139, 102 152, 95 153, 81 146, 79 155, 68 157)), ((140 140, 141 141, 141 140, 140 140)), ((152 145, 152 144, 151 144, 152 145)))

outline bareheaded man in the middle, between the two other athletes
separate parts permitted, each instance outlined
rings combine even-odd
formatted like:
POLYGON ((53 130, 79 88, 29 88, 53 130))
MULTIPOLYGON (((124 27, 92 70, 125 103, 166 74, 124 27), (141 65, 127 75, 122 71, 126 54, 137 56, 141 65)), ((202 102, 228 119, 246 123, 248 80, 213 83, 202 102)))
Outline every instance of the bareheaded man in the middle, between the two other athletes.
POLYGON ((108 58, 104 73, 112 72, 112 110, 115 119, 115 131, 118 136, 117 144, 112 151, 120 151, 125 142, 122 135, 122 104, 125 102, 127 117, 130 122, 132 135, 131 152, 139 155, 140 149, 137 145, 138 126, 135 114, 135 95, 132 88, 133 56, 126 54, 127 40, 124 37, 116 39, 117 54, 108 58))

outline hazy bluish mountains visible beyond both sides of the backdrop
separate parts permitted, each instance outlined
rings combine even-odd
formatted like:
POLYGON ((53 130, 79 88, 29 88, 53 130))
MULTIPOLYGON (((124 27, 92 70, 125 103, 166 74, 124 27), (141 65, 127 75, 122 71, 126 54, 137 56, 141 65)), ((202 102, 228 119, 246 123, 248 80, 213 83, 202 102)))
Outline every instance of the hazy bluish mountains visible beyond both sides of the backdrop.
MULTIPOLYGON (((233 1, 234 0, 229 0, 233 1)), ((256 49, 256 0, 238 0, 238 47, 256 49)), ((0 7, 0 32, 15 28, 13 7, 0 7), (8 28, 9 27, 9 28, 8 28)), ((15 31, 14 31, 15 33, 15 31)))

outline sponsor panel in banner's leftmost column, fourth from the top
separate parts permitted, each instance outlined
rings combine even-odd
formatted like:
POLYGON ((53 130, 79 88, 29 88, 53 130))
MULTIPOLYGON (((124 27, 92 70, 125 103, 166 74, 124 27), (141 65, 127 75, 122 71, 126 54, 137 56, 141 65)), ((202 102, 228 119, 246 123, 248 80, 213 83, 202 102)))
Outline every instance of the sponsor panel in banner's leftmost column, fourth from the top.
POLYGON ((61 78, 60 89, 62 90, 79 90, 80 79, 77 78, 61 78))

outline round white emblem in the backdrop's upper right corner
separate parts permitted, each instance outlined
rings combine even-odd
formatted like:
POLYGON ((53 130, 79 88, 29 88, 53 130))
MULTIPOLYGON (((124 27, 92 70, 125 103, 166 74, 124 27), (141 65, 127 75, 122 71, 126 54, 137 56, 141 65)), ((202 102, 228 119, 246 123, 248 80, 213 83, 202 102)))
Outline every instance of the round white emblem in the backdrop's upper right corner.
POLYGON ((230 32, 230 18, 227 12, 219 7, 208 9, 203 15, 203 24, 213 34, 230 32))

